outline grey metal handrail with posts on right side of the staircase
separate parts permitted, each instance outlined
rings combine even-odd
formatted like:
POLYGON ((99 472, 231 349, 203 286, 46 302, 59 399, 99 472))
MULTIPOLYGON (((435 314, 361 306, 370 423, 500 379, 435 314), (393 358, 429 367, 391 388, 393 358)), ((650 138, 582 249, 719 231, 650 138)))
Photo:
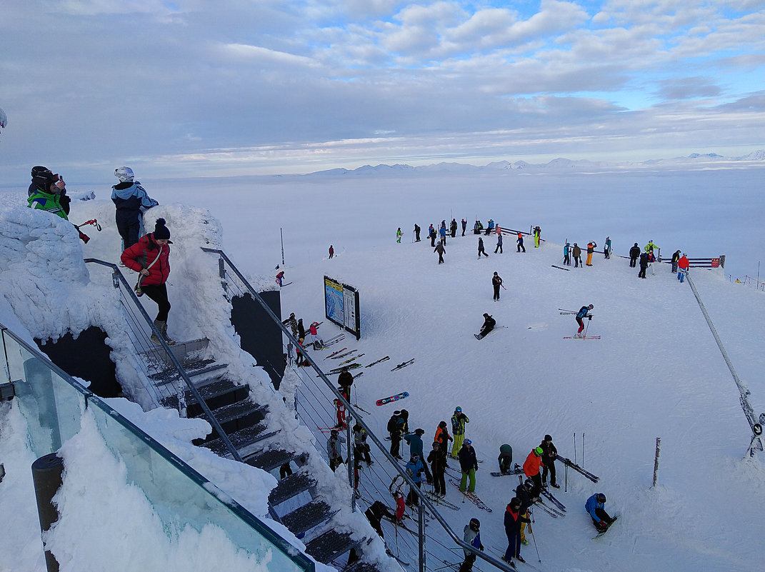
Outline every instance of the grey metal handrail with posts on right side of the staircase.
MULTIPOLYGON (((282 329, 282 333, 287 336, 287 339, 290 340, 291 343, 295 344, 295 347, 299 347, 298 340, 295 340, 295 336, 292 336, 291 332, 285 327, 285 325, 282 323, 282 320, 279 320, 278 316, 274 314, 273 310, 269 307, 268 304, 265 303, 265 301, 260 297, 260 295, 255 291, 254 288, 249 284, 249 282, 246 280, 246 278, 242 275, 242 273, 239 271, 236 266, 233 265, 233 262, 231 262, 230 258, 226 256, 226 253, 223 252, 220 249, 208 249, 207 247, 201 246, 200 247, 203 252, 211 252, 214 254, 217 254, 220 256, 220 258, 226 262, 227 265, 229 265, 229 268, 236 274, 236 276, 239 278, 240 281, 244 284, 244 286, 247 288, 247 291, 252 296, 252 298, 260 304, 260 306, 265 310, 266 314, 269 314, 269 317, 271 317, 272 320, 274 320, 274 323, 278 325, 282 329)), ((221 265, 222 268, 222 265, 221 265)), ((361 415, 356 413, 356 410, 353 408, 353 405, 350 405, 350 402, 346 400, 346 398, 343 397, 343 395, 337 391, 337 388, 335 388, 334 384, 330 382, 329 379, 327 379, 327 375, 324 374, 324 372, 321 371, 319 366, 317 366, 316 362, 314 362, 314 359, 311 358, 311 356, 308 354, 308 352, 303 353, 303 357, 308 363, 311 365, 311 367, 314 369, 315 372, 321 377, 321 379, 324 381, 324 383, 327 384, 327 387, 330 388, 330 391, 334 393, 334 395, 337 396, 337 399, 346 407, 346 410, 350 412, 350 415, 353 416, 353 418, 356 419, 356 423, 360 424, 361 427, 366 431, 366 434, 372 438, 374 444, 377 445, 379 450, 382 451, 382 453, 386 456, 386 458, 389 460, 389 462, 392 464, 392 466, 395 468, 395 470, 403 477, 403 479, 406 481, 406 483, 409 484, 410 487, 412 487, 413 490, 417 493, 419 497, 419 518, 418 518, 418 528, 419 528, 419 540, 420 540, 420 554, 419 554, 419 570, 420 572, 425 572, 425 551, 424 551, 424 545, 422 542, 422 538, 424 537, 424 510, 423 510, 423 503, 424 505, 430 510, 431 515, 438 521, 438 524, 441 525, 441 528, 444 528, 444 531, 451 537, 451 539, 459 545, 461 548, 468 550, 472 552, 473 554, 476 554, 477 557, 480 557, 484 561, 487 561, 489 564, 492 564, 493 566, 499 568, 500 570, 505 570, 505 572, 515 572, 513 568, 509 567, 507 564, 499 561, 495 557, 488 556, 487 554, 484 554, 483 551, 480 551, 477 548, 474 548, 470 544, 467 544, 467 542, 463 541, 457 534, 451 529, 451 527, 448 525, 448 523, 444 520, 444 518, 441 517, 441 515, 438 513, 438 511, 435 509, 435 506, 430 502, 430 499, 428 499, 427 496, 420 494, 420 488, 415 484, 414 480, 412 480, 409 475, 406 474, 405 471, 401 470, 401 467, 399 466, 399 463, 396 462, 396 459, 393 458, 393 456, 389 453, 387 450, 387 447, 382 444, 382 441, 380 441, 377 436, 373 433, 373 431, 369 428, 369 426, 363 421, 361 418, 361 415)), ((350 395, 349 395, 350 397, 350 395)), ((348 428, 350 430, 350 423, 348 424, 348 428)), ((350 451, 352 447, 350 447, 351 441, 348 440, 348 450, 350 451)), ((351 474, 351 463, 348 465, 349 469, 349 477, 351 474)), ((351 483, 353 481, 351 480, 351 483)), ((353 485, 352 485, 353 486, 353 485)), ((353 509, 355 509, 355 496, 351 497, 353 499, 353 509)))

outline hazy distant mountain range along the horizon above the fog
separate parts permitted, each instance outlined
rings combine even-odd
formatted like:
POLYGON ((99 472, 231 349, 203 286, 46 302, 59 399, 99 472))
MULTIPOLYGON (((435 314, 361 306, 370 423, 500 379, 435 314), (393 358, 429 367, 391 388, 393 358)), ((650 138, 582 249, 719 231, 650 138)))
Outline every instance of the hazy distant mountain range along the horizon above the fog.
POLYGON ((337 168, 328 171, 316 171, 307 176, 325 176, 325 175, 365 175, 365 174, 402 174, 402 173, 496 173, 497 171, 552 171, 568 170, 591 171, 595 170, 621 170, 635 169, 641 167, 674 167, 688 164, 711 164, 711 163, 731 163, 739 161, 765 161, 765 149, 754 151, 743 157, 724 157, 717 153, 692 153, 688 157, 675 157, 672 159, 651 159, 640 162, 609 162, 609 161, 588 161, 581 159, 574 161, 566 158, 557 158, 548 163, 528 163, 526 161, 496 161, 484 166, 477 166, 465 163, 436 163, 422 165, 421 167, 412 167, 406 164, 379 164, 364 165, 356 169, 337 168))

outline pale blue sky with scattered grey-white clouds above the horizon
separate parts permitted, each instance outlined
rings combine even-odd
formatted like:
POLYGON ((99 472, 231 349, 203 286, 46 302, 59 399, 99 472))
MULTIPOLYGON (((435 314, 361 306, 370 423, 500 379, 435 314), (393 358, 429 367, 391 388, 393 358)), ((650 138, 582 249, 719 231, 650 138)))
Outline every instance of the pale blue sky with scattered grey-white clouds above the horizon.
POLYGON ((765 145, 763 0, 8 0, 0 184, 765 145))

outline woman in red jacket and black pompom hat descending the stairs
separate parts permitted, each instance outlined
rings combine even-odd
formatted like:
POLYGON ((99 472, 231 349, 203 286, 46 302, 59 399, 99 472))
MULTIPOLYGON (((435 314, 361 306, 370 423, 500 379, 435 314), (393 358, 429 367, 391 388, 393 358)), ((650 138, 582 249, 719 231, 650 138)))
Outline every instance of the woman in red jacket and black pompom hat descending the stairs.
MULTIPOLYGON (((138 242, 122 252, 122 264, 138 272, 138 284, 135 284, 135 294, 146 294, 158 306, 154 325, 161 333, 164 341, 172 346, 175 342, 168 336, 168 288, 165 282, 170 275, 170 229, 165 226, 164 219, 157 219, 154 232, 143 236, 138 242)), ((151 334, 151 341, 160 344, 157 335, 151 334)))

